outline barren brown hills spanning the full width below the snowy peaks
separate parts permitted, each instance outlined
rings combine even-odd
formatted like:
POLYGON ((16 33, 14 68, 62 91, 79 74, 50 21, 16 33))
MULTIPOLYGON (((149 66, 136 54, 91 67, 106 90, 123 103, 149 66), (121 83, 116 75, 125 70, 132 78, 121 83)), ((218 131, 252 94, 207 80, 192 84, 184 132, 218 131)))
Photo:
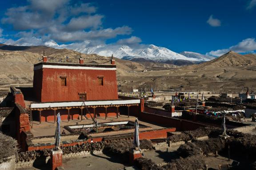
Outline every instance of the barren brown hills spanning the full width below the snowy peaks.
MULTIPOLYGON (((42 61, 43 50, 48 62, 79 62, 80 53, 74 50, 0 44, 0 89, 6 89, 10 84, 32 83, 33 64, 42 61), (68 61, 66 56, 69 56, 68 61)), ((85 63, 110 64, 109 57, 81 55, 85 63)), ((256 54, 242 55, 230 51, 211 61, 188 66, 150 62, 144 58, 132 59, 139 63, 115 59, 118 87, 124 91, 144 87, 154 91, 168 90, 183 85, 187 91, 204 89, 216 93, 238 93, 244 86, 249 89, 256 86, 256 54)))

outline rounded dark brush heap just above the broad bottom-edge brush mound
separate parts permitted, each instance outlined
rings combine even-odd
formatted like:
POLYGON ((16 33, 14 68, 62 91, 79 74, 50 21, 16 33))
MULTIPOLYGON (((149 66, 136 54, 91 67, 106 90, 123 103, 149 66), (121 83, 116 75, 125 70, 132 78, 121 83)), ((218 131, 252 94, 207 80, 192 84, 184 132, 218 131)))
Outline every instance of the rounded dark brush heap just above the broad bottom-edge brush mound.
POLYGON ((202 150, 195 143, 185 143, 180 145, 177 152, 183 158, 187 158, 194 155, 203 155, 202 150))

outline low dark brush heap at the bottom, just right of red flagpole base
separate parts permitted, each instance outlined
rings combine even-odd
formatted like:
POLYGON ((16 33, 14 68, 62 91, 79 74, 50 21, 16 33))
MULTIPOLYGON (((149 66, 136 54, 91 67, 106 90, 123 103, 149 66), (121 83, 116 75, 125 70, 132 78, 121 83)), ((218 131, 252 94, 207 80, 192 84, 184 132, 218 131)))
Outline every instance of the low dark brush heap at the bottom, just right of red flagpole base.
POLYGON ((135 159, 134 164, 140 168, 140 170, 164 170, 164 168, 157 166, 156 163, 147 158, 137 158, 135 159))

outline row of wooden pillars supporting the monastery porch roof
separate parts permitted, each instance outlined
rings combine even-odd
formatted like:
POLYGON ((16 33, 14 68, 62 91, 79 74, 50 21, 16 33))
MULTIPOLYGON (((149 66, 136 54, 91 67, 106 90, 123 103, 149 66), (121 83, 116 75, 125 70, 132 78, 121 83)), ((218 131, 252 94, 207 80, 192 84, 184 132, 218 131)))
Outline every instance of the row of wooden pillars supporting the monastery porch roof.
MULTIPOLYGON (((108 107, 113 107, 113 106, 102 106, 102 107, 104 107, 105 108, 105 119, 107 119, 107 116, 108 116, 108 107)), ((115 106, 116 107, 116 119, 118 119, 118 117, 119 117, 119 107, 120 106, 115 106)), ((80 119, 80 121, 82 121, 83 120, 83 110, 84 110, 84 108, 85 107, 80 107, 80 109, 81 109, 81 119, 80 119)), ((89 107, 89 108, 93 108, 93 117, 94 118, 96 118, 96 108, 98 108, 98 107, 96 107, 96 106, 93 106, 93 107, 89 107)), ((57 110, 58 108, 53 108, 52 110, 54 111, 54 123, 56 123, 56 110, 57 110)), ((69 122, 69 120, 70 120, 70 109, 72 109, 72 108, 65 108, 65 109, 67 109, 68 110, 68 122, 69 122)), ((41 124, 41 112, 43 111, 44 109, 39 109, 38 111, 39 111, 39 123, 41 124)), ((130 106, 127 106, 127 111, 128 111, 128 117, 130 116, 130 106)), ((90 113, 91 114, 91 113, 90 113)), ((72 116, 72 120, 73 120, 73 116, 72 116)))

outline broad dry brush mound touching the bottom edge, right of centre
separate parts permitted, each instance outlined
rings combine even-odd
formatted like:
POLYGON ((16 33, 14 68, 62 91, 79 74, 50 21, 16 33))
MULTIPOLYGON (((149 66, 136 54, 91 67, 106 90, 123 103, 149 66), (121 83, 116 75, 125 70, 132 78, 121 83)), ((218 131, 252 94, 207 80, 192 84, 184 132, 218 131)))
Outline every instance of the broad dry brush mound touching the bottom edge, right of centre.
POLYGON ((200 155, 172 160, 163 166, 165 170, 202 170, 205 162, 200 155))

